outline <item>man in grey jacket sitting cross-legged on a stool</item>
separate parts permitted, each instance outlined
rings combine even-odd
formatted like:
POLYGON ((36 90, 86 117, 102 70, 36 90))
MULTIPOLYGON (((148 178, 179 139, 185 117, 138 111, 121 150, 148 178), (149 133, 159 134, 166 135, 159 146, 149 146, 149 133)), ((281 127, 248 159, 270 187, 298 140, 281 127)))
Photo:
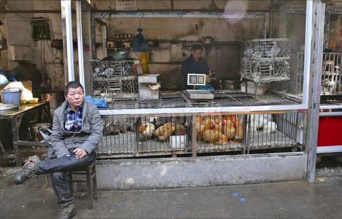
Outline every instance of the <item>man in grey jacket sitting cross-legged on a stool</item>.
POLYGON ((72 218, 76 209, 66 172, 94 162, 96 148, 102 138, 103 120, 96 105, 84 101, 80 83, 70 81, 64 94, 66 101, 55 110, 53 116, 51 147, 55 158, 25 164, 23 170, 14 175, 14 181, 19 184, 33 175, 51 173, 53 190, 63 207, 59 218, 72 218))

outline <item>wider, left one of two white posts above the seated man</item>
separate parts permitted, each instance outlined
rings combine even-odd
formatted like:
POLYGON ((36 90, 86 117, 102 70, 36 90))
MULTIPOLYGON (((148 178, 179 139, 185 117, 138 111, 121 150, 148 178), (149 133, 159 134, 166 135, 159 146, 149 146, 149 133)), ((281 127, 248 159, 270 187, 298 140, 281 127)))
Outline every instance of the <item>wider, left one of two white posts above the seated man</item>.
POLYGON ((66 55, 64 55, 64 57, 66 56, 66 60, 68 63, 68 81, 75 81, 71 0, 61 0, 61 10, 62 21, 65 21, 66 55))

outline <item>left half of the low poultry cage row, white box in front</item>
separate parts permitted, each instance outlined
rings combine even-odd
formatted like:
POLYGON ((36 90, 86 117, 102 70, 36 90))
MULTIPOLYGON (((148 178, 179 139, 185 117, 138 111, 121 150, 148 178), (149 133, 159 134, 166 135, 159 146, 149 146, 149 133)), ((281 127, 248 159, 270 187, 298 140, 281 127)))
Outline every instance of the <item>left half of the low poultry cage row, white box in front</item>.
POLYGON ((187 117, 105 116, 100 155, 185 152, 191 133, 187 117))

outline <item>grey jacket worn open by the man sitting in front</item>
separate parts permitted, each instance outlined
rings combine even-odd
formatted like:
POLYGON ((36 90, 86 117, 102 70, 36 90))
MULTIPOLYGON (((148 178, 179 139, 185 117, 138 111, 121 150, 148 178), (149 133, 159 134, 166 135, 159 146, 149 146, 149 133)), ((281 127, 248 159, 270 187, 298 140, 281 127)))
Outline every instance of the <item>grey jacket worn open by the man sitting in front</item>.
POLYGON ((52 149, 56 157, 70 154, 68 149, 81 148, 88 153, 97 152, 98 143, 102 138, 103 120, 96 105, 83 101, 82 127, 80 131, 66 131, 64 129, 68 102, 55 110, 51 133, 52 149))

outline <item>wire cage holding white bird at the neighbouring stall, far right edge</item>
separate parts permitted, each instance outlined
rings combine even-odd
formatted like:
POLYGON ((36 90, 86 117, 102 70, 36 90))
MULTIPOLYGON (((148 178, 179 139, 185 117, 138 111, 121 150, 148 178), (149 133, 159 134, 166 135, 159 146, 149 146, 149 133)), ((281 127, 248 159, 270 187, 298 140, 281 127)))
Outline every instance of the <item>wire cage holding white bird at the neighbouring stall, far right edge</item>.
POLYGON ((342 53, 324 53, 321 94, 341 94, 342 53))

